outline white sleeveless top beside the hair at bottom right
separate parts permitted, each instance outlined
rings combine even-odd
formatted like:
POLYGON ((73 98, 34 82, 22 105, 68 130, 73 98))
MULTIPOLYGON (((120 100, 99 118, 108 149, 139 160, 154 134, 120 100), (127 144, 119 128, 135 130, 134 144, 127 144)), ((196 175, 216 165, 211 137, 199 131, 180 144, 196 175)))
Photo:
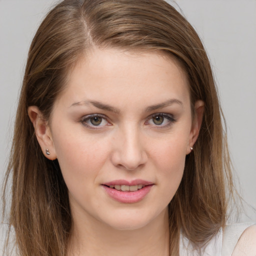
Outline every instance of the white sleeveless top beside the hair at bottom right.
POLYGON ((256 223, 229 224, 224 230, 220 228, 218 233, 201 249, 201 254, 192 247, 186 237, 181 235, 179 256, 231 256, 243 231, 253 224, 256 223))

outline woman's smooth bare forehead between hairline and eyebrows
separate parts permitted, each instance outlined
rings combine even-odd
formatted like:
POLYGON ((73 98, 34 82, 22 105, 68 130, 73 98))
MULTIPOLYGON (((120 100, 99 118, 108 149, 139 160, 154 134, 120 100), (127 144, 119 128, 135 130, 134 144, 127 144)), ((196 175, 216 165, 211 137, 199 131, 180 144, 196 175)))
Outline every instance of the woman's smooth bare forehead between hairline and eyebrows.
POLYGON ((98 48, 79 59, 62 94, 71 104, 86 99, 121 103, 127 98, 133 103, 152 104, 189 97, 186 75, 174 57, 160 51, 98 48))

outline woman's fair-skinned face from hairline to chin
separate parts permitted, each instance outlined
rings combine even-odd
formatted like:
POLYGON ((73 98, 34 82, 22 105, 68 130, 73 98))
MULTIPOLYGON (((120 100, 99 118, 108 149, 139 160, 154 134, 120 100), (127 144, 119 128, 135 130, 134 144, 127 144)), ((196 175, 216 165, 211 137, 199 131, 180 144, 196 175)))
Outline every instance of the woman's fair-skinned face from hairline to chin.
POLYGON ((87 54, 56 100, 48 131, 74 222, 136 229, 163 216, 198 126, 176 61, 115 49, 87 54))

